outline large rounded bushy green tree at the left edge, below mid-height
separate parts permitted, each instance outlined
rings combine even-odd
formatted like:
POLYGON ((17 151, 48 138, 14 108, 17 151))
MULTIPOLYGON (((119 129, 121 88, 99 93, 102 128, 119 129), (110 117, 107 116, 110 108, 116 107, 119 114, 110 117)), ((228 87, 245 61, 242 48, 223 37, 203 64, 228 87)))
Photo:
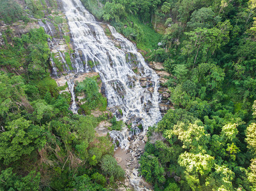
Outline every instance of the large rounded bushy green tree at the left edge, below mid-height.
POLYGON ((45 146, 43 127, 31 124, 25 118, 11 121, 0 134, 0 159, 4 164, 19 160, 45 146))

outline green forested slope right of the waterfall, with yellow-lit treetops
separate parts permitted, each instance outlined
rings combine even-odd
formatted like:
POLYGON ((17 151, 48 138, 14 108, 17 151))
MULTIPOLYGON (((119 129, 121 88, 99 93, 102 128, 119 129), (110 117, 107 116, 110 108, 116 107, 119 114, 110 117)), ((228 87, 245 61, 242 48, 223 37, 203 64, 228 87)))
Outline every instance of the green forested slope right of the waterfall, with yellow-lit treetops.
POLYGON ((256 189, 256 1, 84 2, 172 74, 175 110, 148 133, 142 176, 155 190, 256 189))

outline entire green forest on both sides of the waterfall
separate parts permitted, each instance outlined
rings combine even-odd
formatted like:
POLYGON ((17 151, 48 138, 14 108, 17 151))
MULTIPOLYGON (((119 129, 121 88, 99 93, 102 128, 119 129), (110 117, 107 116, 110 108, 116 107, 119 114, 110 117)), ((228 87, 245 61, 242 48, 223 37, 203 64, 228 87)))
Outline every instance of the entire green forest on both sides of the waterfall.
MULTIPOLYGON (((36 22, 60 1, 20 2, 0 0, 1 23, 36 22)), ((81 2, 170 74, 161 86, 174 109, 149 128, 139 161, 154 190, 256 190, 256 1, 81 2)), ((85 115, 69 110, 50 78, 48 38, 41 27, 0 33, 0 190, 117 189, 114 145, 94 133, 102 120, 120 129, 116 118, 90 115, 107 107, 96 78, 75 89, 85 115)))

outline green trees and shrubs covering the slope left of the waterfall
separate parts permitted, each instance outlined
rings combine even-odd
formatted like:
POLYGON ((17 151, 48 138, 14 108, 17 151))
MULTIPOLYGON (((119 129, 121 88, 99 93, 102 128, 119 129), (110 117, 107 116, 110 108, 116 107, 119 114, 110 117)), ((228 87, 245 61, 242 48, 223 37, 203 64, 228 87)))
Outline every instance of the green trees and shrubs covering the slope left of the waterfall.
MULTIPOLYGON (((27 12, 32 11, 36 18, 44 17, 46 4, 38 2, 43 1, 26 1, 31 6, 27 12)), ((51 2, 56 5, 56 1, 47 1, 51 2)), ((6 23, 20 19, 19 10, 24 14, 15 1, 9 3, 19 9, 10 20, 1 14, 0 19, 6 23)), ((52 20, 61 23, 59 18, 52 20)), ((109 137, 96 137, 94 131, 102 120, 112 116, 89 115, 91 110, 105 111, 107 107, 107 99, 98 90, 100 79, 86 78, 76 85, 77 94, 86 96, 86 110, 80 111, 83 115, 74 115, 69 110, 70 94, 63 92, 68 85, 57 87, 50 77, 49 38, 42 27, 20 36, 8 26, 1 31, 0 190, 116 187, 124 171, 112 157, 114 145, 109 137)))

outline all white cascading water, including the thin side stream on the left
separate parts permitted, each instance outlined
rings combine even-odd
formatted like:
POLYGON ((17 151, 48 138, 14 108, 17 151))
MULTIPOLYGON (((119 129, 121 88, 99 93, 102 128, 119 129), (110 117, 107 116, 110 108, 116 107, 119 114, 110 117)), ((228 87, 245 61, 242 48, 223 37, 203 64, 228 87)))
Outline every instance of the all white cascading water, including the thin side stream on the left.
MULTIPOLYGON (((158 75, 147 66, 133 43, 117 33, 114 27, 96 22, 79 0, 62 0, 62 3, 74 46, 73 71, 69 71, 71 76, 68 75, 68 88, 73 101, 71 110, 77 113, 73 76, 91 70, 98 72, 105 87, 109 110, 118 120, 132 126, 132 131, 124 128, 123 131, 110 132, 121 148, 128 149, 128 137, 140 132, 139 124, 143 127, 141 134, 144 136, 147 128, 162 118, 158 105, 158 75), (109 28, 111 37, 106 36, 103 25, 109 28)), ((45 31, 52 32, 49 24, 44 27, 45 31)), ((53 73, 56 74, 56 71, 53 70, 53 73)), ((132 179, 136 178, 139 179, 137 175, 132 179)), ((134 185, 135 182, 131 180, 135 189, 140 190, 134 185)))

